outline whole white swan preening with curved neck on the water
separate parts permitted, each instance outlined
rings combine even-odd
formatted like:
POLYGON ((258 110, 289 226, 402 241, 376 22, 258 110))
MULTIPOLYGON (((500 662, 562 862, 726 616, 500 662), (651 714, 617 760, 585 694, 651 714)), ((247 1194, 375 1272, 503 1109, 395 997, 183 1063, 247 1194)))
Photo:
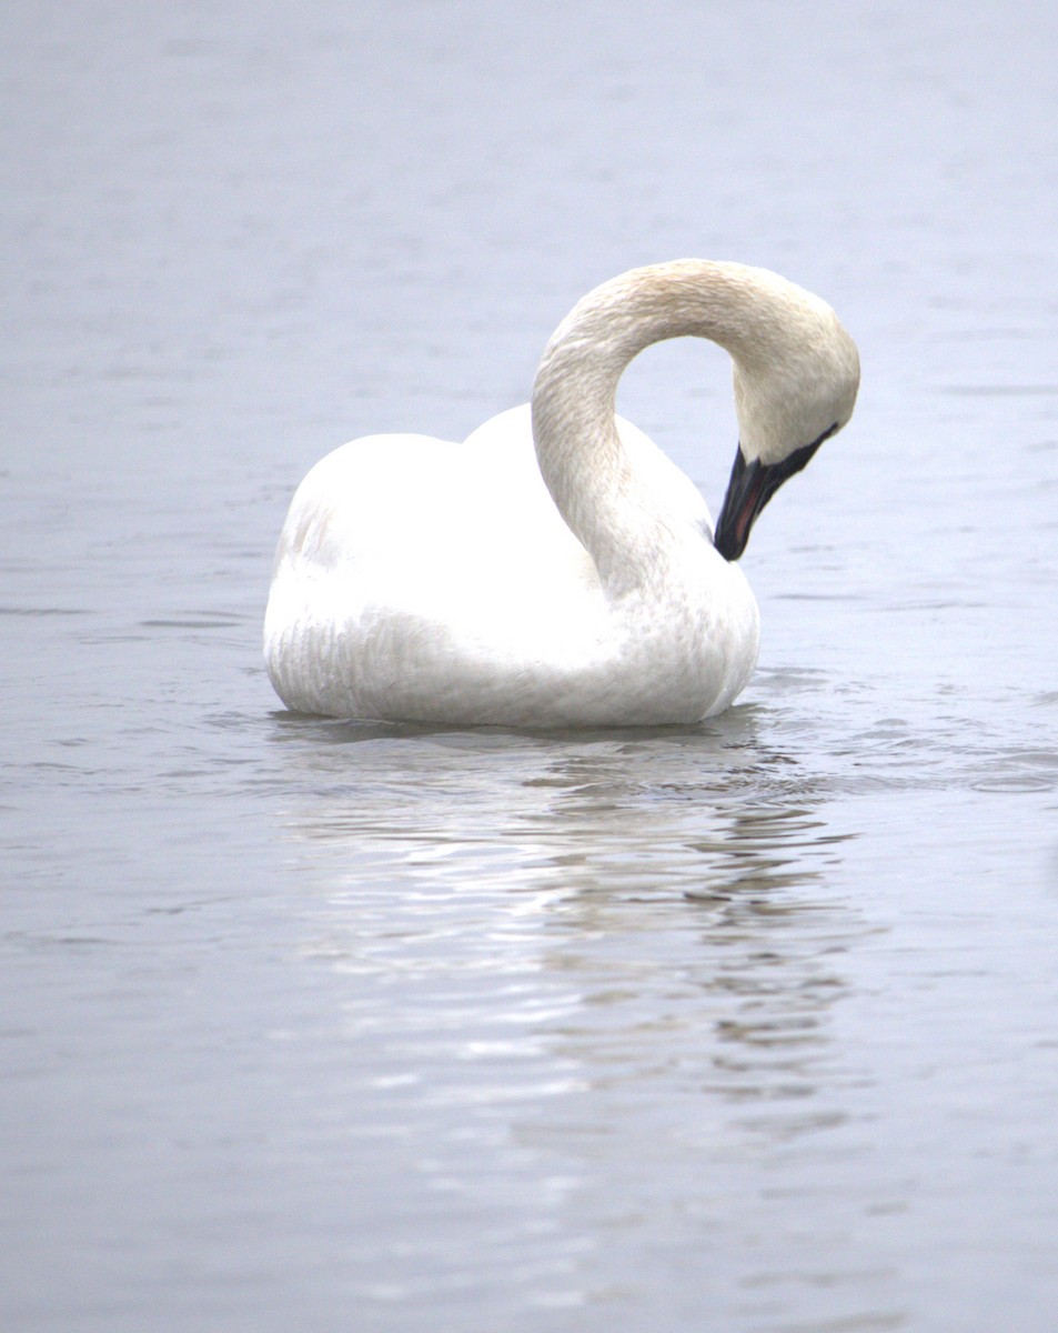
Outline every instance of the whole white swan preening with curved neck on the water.
POLYGON ((690 259, 604 283, 546 344, 532 405, 462 444, 373 435, 312 468, 265 613, 276 692, 301 713, 521 728, 721 712, 760 644, 734 561, 858 384, 833 309, 766 269, 690 259), (694 484, 614 411, 629 361, 684 335, 733 361, 716 535, 694 484))

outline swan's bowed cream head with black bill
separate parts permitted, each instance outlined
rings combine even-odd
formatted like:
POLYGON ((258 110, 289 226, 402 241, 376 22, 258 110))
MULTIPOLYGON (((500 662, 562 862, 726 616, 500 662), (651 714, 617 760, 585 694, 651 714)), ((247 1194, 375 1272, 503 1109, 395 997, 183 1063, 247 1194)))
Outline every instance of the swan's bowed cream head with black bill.
POLYGON ((780 283, 769 293, 780 317, 730 347, 740 444, 714 536, 725 560, 742 555, 761 509, 849 421, 859 388, 859 353, 833 309, 780 283))

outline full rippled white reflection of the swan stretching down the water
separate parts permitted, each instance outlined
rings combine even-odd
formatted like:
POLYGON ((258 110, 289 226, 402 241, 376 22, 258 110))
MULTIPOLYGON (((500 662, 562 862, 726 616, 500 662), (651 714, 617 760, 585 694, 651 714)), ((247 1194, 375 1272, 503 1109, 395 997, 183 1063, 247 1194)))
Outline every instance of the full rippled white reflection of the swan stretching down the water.
POLYGON ((510 1278, 513 1246, 533 1300, 605 1304, 648 1218, 697 1248, 750 1164, 842 1124, 827 1028, 863 926, 826 877, 850 834, 750 709, 634 737, 284 720, 276 741, 314 792, 284 820, 324 900, 306 954, 340 978, 354 1133, 409 1190, 361 1294, 425 1298, 390 1241, 441 1197, 466 1281, 460 1218, 500 1209, 486 1268, 510 1278))

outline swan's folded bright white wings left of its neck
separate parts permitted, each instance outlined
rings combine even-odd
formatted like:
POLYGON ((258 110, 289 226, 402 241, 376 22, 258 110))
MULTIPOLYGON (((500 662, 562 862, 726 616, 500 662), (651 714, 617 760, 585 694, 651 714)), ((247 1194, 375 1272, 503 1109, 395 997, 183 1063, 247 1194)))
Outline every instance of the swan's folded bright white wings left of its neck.
POLYGON ((270 603, 282 619, 348 625, 373 608, 485 635, 497 617, 526 624, 534 608, 553 616, 597 589, 540 476, 524 407, 461 444, 376 435, 324 457, 290 503, 270 603))

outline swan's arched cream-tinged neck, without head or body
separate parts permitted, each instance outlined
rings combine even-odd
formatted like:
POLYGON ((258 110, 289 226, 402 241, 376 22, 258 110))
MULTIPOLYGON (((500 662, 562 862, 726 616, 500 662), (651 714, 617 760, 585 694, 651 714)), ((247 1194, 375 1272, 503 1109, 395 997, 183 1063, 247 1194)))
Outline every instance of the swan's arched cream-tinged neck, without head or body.
POLYGON ((678 532, 621 445, 617 383, 644 348, 685 335, 749 355, 761 321, 746 300, 748 273, 704 260, 633 269, 589 292, 544 351, 533 387, 540 471, 612 591, 657 573, 678 532))

